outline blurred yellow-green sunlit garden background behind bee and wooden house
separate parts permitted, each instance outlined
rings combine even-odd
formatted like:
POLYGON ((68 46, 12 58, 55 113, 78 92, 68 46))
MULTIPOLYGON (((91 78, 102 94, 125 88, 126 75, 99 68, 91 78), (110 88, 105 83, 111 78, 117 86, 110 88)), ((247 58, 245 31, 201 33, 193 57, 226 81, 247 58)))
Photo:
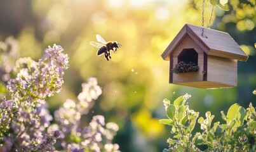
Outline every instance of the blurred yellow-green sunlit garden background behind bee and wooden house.
MULTIPOLYGON (((163 99, 191 94, 189 106, 205 117, 206 111, 221 120, 233 103, 255 106, 256 15, 255 0, 232 0, 229 11, 215 7, 212 27, 228 32, 249 55, 238 62, 238 87, 196 89, 168 84, 169 62, 161 54, 185 23, 201 25, 202 1, 197 0, 0 0, 0 41, 13 35, 20 56, 41 58, 48 45, 58 44, 69 54, 62 91, 48 98, 50 111, 65 99, 76 99, 81 83, 96 77, 103 94, 92 115, 104 115, 120 129, 114 139, 121 151, 162 151, 167 148, 170 127, 159 124, 166 118, 163 99), (112 53, 109 64, 90 46, 100 34, 122 47, 112 53)), ((205 26, 212 6, 205 2, 205 26)), ((199 126, 198 130, 199 131, 199 126)))

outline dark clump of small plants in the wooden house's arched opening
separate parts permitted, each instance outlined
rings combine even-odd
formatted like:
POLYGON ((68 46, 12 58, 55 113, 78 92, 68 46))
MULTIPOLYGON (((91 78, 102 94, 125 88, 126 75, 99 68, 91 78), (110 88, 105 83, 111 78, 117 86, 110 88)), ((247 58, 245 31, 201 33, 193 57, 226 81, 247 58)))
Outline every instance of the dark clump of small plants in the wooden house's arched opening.
POLYGON ((173 73, 184 73, 184 72, 198 72, 199 66, 195 63, 189 62, 185 63, 184 61, 180 61, 175 68, 172 69, 173 73))

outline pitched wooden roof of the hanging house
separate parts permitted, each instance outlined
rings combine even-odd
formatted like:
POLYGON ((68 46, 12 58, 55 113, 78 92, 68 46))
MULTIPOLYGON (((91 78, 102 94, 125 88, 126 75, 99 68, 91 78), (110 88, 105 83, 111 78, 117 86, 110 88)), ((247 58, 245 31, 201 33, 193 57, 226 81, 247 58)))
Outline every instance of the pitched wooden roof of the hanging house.
POLYGON ((201 31, 202 27, 185 24, 179 34, 176 35, 173 41, 165 49, 161 55, 162 58, 164 60, 170 60, 170 54, 173 50, 179 46, 186 35, 189 35, 194 42, 196 42, 198 46, 209 55, 221 56, 240 61, 247 60, 247 54, 245 54, 236 41, 234 41, 234 39, 232 39, 232 37, 226 32, 204 28, 204 34, 202 36, 201 31))

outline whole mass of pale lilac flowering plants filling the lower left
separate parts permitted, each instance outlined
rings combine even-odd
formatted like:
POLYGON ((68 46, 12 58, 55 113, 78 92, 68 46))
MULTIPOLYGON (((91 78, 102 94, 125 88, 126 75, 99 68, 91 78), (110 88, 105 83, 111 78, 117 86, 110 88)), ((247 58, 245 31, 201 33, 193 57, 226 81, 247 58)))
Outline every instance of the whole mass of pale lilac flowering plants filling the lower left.
MULTIPOLYGON (((13 57, 10 50, 16 43, 11 40, 0 42, 1 50, 7 50, 2 54, 6 60, 13 57), (3 49, 4 46, 8 49, 3 49)), ((81 116, 88 113, 93 101, 102 94, 95 78, 82 84, 83 91, 77 97, 79 103, 67 99, 55 111, 56 123, 51 124, 53 117, 46 97, 60 92, 64 84, 69 57, 63 51, 54 44, 38 62, 19 58, 11 70, 1 71, 5 75, 17 72, 17 76, 8 80, 6 86, 10 99, 4 94, 0 99, 0 151, 118 151, 118 144, 112 144, 118 125, 105 124, 102 115, 95 115, 89 125, 81 124, 81 116)), ((1 69, 6 69, 5 66, 1 69)))

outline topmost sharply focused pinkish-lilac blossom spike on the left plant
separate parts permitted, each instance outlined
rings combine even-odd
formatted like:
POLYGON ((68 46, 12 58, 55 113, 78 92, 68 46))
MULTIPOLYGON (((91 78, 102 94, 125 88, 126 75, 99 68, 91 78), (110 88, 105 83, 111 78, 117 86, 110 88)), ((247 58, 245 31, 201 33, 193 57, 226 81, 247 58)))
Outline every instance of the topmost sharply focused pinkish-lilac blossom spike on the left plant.
POLYGON ((63 81, 63 70, 69 67, 67 54, 56 44, 45 50, 38 63, 25 59, 25 68, 20 69, 16 79, 8 82, 8 91, 12 98, 37 101, 41 103, 46 96, 60 92, 63 81))

